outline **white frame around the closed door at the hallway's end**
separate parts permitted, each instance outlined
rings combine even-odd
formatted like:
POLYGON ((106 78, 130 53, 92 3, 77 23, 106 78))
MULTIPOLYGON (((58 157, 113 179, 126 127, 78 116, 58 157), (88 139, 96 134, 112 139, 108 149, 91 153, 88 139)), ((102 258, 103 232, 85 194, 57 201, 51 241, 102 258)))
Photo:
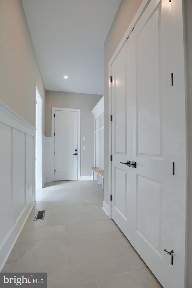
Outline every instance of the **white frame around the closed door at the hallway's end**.
POLYGON ((55 141, 54 141, 54 132, 55 132, 55 119, 54 119, 54 114, 55 111, 70 111, 70 112, 77 112, 77 151, 78 151, 78 156, 77 156, 77 180, 81 180, 81 109, 74 109, 74 108, 57 108, 57 107, 52 107, 51 108, 51 138, 52 138, 52 167, 53 167, 53 181, 54 181, 54 148, 55 148, 55 141))

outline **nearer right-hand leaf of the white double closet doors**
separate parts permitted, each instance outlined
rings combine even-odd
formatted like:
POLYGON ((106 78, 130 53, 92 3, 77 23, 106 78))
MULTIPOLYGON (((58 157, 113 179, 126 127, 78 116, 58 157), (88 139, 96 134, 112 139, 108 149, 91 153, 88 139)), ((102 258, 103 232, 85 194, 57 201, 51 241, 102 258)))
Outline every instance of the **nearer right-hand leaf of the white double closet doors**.
POLYGON ((131 160, 137 162, 131 168, 131 243, 164 288, 184 288, 185 277, 185 94, 184 71, 179 64, 172 70, 175 16, 169 1, 152 0, 129 39, 131 160), (172 72, 181 79, 175 86, 172 72), (164 249, 174 250, 173 265, 164 249))

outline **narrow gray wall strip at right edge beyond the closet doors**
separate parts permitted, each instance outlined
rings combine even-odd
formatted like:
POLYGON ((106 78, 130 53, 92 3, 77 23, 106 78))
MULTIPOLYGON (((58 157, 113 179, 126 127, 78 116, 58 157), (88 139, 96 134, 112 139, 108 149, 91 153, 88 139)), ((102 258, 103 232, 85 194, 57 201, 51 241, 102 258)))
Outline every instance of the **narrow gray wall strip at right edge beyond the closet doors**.
POLYGON ((187 128, 188 128, 188 220, 187 220, 187 288, 192 287, 192 1, 185 4, 185 40, 187 70, 187 128))

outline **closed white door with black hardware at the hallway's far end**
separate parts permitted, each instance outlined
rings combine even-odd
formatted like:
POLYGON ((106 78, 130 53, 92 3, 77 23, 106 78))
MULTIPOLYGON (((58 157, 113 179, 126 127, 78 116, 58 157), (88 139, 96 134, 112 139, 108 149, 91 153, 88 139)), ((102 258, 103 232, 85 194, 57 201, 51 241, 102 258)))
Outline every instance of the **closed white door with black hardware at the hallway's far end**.
POLYGON ((54 119, 54 180, 77 180, 78 112, 55 111, 54 119))

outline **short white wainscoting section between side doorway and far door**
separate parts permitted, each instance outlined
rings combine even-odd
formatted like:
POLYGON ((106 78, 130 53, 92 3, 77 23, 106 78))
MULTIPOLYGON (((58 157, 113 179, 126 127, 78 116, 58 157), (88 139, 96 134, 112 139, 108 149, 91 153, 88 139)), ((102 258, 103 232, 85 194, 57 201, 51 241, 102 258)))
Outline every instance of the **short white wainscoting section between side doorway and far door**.
POLYGON ((45 182, 54 181, 54 155, 53 155, 53 140, 52 137, 42 138, 42 187, 45 182))

